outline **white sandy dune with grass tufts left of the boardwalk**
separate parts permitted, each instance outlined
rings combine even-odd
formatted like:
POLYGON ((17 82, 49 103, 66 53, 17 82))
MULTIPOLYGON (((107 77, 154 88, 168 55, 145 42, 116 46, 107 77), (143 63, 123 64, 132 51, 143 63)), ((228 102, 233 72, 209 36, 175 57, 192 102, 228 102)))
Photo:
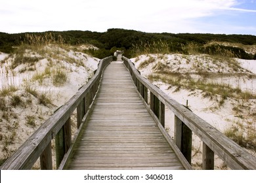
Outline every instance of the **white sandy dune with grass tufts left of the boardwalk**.
MULTIPOLYGON (((6 96, 0 94, 0 159, 11 156, 56 108, 66 103, 81 86, 87 83, 88 78, 97 68, 99 61, 97 58, 55 45, 45 47, 47 51, 44 54, 26 51, 28 56, 40 58, 32 66, 30 63, 24 63, 14 69, 11 69, 11 65, 15 55, 0 53, 0 93, 11 86, 16 88, 16 91, 6 96), (52 57, 51 52, 56 50, 58 55, 52 57), (45 68, 48 68, 51 74, 43 76, 40 82, 35 80, 35 75, 44 73, 45 68), (53 84, 52 77, 56 70, 66 73, 67 79, 63 84, 53 84), (39 93, 38 95, 44 94, 51 103, 41 103, 39 97, 26 91, 28 87, 39 93), (16 95, 19 96, 20 102, 14 106, 12 100, 16 95)), ((86 45, 80 47, 91 48, 86 45)), ((72 117, 72 120, 75 121, 75 118, 72 117)), ((75 122, 72 126, 75 130, 75 122)), ((37 163, 35 167, 38 166, 37 163)))

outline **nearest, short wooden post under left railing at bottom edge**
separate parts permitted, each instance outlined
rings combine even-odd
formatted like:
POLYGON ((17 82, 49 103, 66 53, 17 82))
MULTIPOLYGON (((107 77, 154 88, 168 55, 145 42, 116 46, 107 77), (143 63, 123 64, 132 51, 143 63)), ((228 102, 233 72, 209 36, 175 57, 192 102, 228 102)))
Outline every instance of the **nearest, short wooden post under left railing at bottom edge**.
POLYGON ((51 142, 47 145, 45 150, 40 156, 41 170, 52 170, 53 169, 53 157, 52 157, 52 144, 51 142))

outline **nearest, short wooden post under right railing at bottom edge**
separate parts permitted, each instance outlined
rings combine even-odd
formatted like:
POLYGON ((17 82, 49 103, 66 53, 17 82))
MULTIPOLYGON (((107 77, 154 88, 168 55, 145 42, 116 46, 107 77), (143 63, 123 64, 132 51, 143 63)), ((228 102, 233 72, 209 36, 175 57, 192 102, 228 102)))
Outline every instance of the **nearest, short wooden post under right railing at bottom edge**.
POLYGON ((203 142, 203 170, 214 170, 214 152, 203 142))

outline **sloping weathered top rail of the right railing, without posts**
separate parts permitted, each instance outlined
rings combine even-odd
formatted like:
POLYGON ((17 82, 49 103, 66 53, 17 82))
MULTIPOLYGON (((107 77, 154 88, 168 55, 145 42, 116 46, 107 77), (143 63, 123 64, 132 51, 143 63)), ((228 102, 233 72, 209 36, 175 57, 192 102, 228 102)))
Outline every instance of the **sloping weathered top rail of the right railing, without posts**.
POLYGON ((129 59, 124 57, 122 59, 126 67, 132 70, 133 75, 135 75, 151 93, 156 95, 165 107, 172 110, 195 135, 200 137, 219 158, 223 159, 228 167, 231 169, 256 169, 256 158, 249 154, 249 152, 140 76, 129 59))

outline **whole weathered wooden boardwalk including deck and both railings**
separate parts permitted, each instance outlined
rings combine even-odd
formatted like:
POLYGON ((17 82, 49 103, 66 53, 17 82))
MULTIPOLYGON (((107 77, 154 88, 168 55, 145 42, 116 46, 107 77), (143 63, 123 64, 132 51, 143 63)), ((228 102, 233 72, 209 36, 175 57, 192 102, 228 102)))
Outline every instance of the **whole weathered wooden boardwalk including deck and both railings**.
POLYGON ((202 140, 202 169, 214 169, 217 155, 230 169, 256 170, 254 156, 148 82, 130 59, 112 59, 102 59, 93 78, 0 169, 32 169, 37 159, 41 169, 47 170, 53 169, 53 160, 60 170, 192 169, 194 133, 202 140), (165 108, 175 114, 174 141, 164 129, 165 108), (74 110, 75 132, 70 123, 74 110))

